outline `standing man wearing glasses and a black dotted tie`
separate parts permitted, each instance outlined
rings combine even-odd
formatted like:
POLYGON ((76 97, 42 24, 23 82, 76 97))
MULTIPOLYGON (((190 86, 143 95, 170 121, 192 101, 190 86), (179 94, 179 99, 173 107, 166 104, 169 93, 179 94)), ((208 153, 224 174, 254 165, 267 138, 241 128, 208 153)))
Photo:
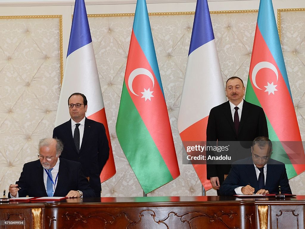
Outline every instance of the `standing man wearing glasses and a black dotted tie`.
POLYGON ((53 137, 63 141, 61 158, 81 162, 84 174, 101 197, 100 173, 109 157, 109 145, 105 127, 85 117, 87 98, 84 94, 73 93, 68 98, 71 119, 53 130, 53 137))

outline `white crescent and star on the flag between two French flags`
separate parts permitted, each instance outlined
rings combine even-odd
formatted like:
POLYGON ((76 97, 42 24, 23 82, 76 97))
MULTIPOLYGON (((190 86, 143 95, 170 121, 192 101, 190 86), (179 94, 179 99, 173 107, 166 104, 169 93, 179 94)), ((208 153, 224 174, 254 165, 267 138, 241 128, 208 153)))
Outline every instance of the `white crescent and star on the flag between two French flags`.
MULTIPOLYGON (((135 70, 133 70, 129 77, 128 77, 128 88, 129 90, 131 91, 132 94, 136 95, 136 96, 139 96, 137 95, 133 88, 132 88, 132 82, 134 81, 134 79, 138 76, 138 75, 145 75, 147 77, 149 77, 152 81, 152 88, 154 87, 155 85, 155 80, 153 78, 153 75, 150 71, 148 71, 146 68, 136 68, 135 70)), ((150 91, 150 88, 148 88, 147 90, 144 88, 144 92, 141 92, 143 94, 143 96, 141 98, 145 98, 145 101, 146 100, 150 100, 151 97, 154 97, 152 95, 153 91, 150 91)))

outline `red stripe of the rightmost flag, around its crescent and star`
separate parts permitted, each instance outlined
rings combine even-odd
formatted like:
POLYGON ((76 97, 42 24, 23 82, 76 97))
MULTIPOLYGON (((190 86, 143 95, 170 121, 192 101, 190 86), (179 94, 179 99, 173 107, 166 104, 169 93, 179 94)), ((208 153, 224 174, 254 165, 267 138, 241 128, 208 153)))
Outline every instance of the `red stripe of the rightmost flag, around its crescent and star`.
POLYGON ((266 42, 264 41, 258 26, 256 27, 255 40, 253 44, 249 78, 253 90, 260 101, 260 104, 263 107, 264 112, 269 119, 269 122, 271 123, 276 135, 278 136, 278 139, 282 142, 291 163, 294 165, 295 169, 298 169, 299 166, 296 165, 302 163, 300 159, 304 162, 305 155, 301 142, 302 140, 299 125, 296 119, 296 113, 281 71, 279 70, 277 63, 275 62, 266 42), (278 79, 276 73, 268 67, 272 67, 272 65, 267 64, 264 65, 264 68, 261 68, 257 72, 253 82, 253 69, 260 62, 267 62, 274 65, 278 72, 278 79), (270 84, 276 85, 276 90, 272 90, 273 93, 266 91, 267 88, 265 86, 270 84), (285 145, 284 141, 294 141, 295 144, 288 147, 285 145), (290 152, 294 154, 290 154, 290 152), (296 153, 298 153, 297 160, 295 159, 296 153))

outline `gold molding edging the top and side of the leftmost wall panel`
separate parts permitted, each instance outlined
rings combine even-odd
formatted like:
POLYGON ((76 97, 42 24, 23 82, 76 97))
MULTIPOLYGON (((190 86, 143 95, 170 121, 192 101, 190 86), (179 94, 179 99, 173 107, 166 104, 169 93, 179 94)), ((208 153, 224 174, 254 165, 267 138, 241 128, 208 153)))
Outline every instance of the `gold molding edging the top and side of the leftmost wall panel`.
POLYGON ((59 19, 59 61, 60 84, 63 82, 63 16, 62 15, 25 15, 25 16, 0 16, 0 19, 59 19))

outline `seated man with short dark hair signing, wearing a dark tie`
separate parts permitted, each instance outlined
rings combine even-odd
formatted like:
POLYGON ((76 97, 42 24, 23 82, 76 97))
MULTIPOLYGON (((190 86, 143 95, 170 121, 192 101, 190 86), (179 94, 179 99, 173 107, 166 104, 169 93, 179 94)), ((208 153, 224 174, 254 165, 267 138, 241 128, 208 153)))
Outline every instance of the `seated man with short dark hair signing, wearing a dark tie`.
POLYGON ((272 142, 257 137, 251 147, 252 155, 232 164, 230 173, 220 187, 221 195, 292 194, 285 165, 270 158, 272 142))

